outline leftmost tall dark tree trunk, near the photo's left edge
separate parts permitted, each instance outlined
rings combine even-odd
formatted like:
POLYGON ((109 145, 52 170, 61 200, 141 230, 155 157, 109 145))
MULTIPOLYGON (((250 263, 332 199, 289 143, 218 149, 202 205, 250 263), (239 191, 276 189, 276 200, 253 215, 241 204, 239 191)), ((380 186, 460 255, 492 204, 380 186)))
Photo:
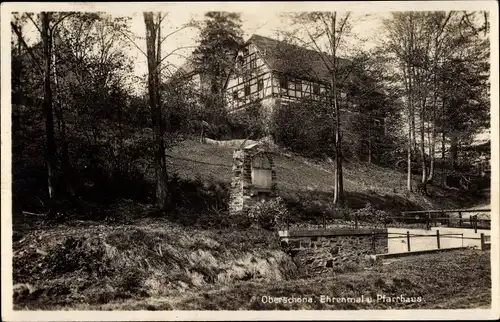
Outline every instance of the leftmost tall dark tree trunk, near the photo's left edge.
POLYGON ((50 13, 42 12, 42 41, 43 41, 43 113, 45 117, 46 135, 46 166, 47 166, 47 188, 49 198, 55 196, 56 177, 56 143, 54 138, 54 114, 52 107, 52 88, 50 86, 50 65, 51 65, 51 43, 52 35, 50 31, 50 13))

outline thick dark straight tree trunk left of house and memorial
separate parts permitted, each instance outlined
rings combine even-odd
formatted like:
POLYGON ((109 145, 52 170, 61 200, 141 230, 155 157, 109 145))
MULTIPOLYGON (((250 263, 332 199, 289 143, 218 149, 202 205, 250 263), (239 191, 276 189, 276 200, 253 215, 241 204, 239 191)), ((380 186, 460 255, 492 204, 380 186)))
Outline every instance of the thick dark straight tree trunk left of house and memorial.
POLYGON ((146 47, 148 55, 148 93, 149 106, 151 108, 151 119, 153 125, 153 139, 155 143, 155 174, 156 174, 156 200, 158 208, 166 210, 169 204, 167 169, 165 158, 165 143, 163 140, 163 120, 159 102, 159 60, 157 59, 156 37, 154 18, 152 12, 144 13, 146 24, 146 47))

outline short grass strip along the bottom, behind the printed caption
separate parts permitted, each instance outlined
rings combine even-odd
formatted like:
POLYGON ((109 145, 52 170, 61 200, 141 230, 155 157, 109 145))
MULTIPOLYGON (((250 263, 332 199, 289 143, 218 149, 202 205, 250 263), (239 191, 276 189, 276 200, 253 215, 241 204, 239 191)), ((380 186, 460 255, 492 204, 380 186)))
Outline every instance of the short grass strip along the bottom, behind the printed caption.
MULTIPOLYGON (((116 299, 105 304, 72 303, 79 310, 358 310, 465 309, 491 305, 489 252, 453 251, 421 255, 354 272, 306 279, 237 281, 210 289, 170 292, 160 297, 116 299), (321 295, 371 303, 321 303, 321 295), (420 302, 376 301, 421 297, 420 302), (262 297, 308 297, 312 303, 263 303, 262 297)), ((56 305, 53 309, 67 309, 56 305)))

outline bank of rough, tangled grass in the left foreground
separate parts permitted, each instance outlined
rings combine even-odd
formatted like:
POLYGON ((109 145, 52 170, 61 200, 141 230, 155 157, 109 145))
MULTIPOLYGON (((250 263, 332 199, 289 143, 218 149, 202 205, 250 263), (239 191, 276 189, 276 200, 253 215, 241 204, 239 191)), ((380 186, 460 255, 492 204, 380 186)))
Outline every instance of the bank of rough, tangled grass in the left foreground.
POLYGON ((168 221, 59 226, 14 242, 17 307, 162 296, 238 280, 284 280, 297 274, 276 234, 197 230, 168 221))

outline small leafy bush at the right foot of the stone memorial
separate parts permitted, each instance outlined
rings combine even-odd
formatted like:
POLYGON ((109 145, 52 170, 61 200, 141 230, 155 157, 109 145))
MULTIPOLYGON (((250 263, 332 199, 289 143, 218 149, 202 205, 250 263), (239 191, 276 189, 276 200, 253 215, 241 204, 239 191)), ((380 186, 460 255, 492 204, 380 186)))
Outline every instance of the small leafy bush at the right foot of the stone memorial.
POLYGON ((261 228, 272 230, 288 220, 288 209, 280 197, 254 205, 248 217, 261 228))

